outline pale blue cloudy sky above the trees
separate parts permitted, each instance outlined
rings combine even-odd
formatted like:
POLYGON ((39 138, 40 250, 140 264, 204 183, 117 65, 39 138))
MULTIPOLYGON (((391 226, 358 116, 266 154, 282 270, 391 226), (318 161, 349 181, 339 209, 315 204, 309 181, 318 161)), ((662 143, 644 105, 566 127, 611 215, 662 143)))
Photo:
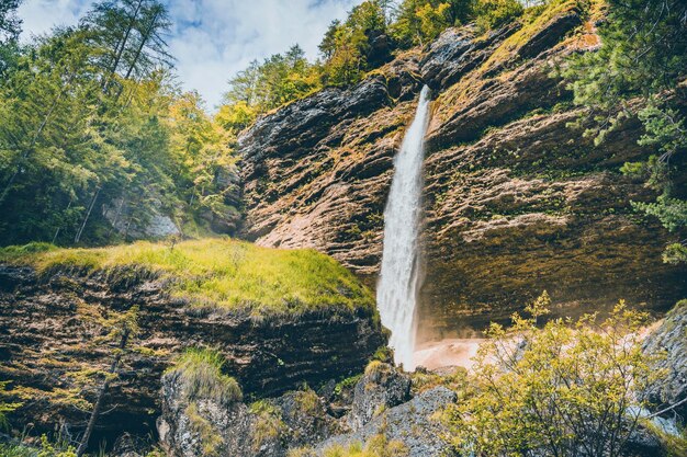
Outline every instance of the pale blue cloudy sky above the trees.
MULTIPOLYGON (((2 0, 0 0, 2 1, 2 0)), ((174 25, 168 43, 184 89, 198 90, 213 110, 228 79, 252 59, 300 44, 308 58, 334 19, 362 0, 161 0, 174 25)), ((92 0, 24 0, 23 39, 55 25, 72 25, 92 0)))

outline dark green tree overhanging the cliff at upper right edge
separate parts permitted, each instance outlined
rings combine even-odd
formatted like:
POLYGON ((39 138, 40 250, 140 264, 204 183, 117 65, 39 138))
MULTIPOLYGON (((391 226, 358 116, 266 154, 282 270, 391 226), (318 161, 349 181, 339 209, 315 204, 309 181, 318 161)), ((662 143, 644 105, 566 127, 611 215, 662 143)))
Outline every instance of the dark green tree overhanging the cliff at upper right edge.
MULTIPOLYGON (((675 231, 687 225, 684 183, 675 180, 684 173, 687 134, 684 111, 673 106, 665 91, 674 90, 687 76, 687 2, 610 0, 599 34, 600 49, 571 59, 563 76, 575 103, 592 111, 596 126, 586 135, 596 136, 597 145, 630 116, 643 123, 646 134, 640 145, 647 147, 647 157, 624 164, 622 171, 643 176, 658 193, 654 203, 637 203, 635 208, 675 231), (644 107, 630 107, 631 98, 643 99, 644 107)), ((685 240, 671 243, 664 260, 687 260, 685 240)))

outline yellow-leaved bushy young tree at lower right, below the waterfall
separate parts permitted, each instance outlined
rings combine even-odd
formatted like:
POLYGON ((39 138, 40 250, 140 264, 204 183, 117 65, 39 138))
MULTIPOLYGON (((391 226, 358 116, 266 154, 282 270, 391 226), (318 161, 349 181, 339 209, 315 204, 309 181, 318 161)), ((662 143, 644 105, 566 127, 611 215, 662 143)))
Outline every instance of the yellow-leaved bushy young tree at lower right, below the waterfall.
POLYGON ((468 385, 469 397, 448 421, 459 448, 477 456, 620 456, 638 427, 643 402, 635 391, 654 382, 641 349, 646 316, 621 301, 598 322, 548 313, 544 293, 515 315, 511 329, 492 324, 468 385))

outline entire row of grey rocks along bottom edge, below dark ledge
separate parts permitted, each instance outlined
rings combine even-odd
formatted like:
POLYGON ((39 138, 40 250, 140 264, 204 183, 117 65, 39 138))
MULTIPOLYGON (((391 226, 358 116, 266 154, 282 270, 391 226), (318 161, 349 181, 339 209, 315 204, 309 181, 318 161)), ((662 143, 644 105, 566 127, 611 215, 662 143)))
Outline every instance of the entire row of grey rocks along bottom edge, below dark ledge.
POLYGON ((330 414, 331 397, 309 389, 251 404, 211 395, 189 399, 183 380, 172 370, 162 378, 160 443, 173 457, 286 457, 331 455, 337 446, 383 436, 403 443, 409 457, 452 455, 437 413, 455 402, 455 393, 435 387, 412 399, 407 375, 379 362, 370 366, 374 369, 358 380, 352 399, 339 392, 351 401, 349 413, 340 418, 330 414))

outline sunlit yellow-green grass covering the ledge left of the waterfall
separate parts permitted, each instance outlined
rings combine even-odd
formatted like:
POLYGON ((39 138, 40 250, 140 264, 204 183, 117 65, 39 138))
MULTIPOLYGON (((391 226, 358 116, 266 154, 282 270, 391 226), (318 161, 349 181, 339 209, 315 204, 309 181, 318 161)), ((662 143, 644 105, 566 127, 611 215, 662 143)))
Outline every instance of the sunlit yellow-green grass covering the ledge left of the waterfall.
POLYGON ((169 292, 195 306, 250 309, 255 315, 326 307, 374 309, 374 296, 352 273, 314 250, 260 248, 230 239, 137 242, 102 249, 41 244, 0 250, 0 263, 29 263, 40 272, 139 267, 171 279, 169 292))

